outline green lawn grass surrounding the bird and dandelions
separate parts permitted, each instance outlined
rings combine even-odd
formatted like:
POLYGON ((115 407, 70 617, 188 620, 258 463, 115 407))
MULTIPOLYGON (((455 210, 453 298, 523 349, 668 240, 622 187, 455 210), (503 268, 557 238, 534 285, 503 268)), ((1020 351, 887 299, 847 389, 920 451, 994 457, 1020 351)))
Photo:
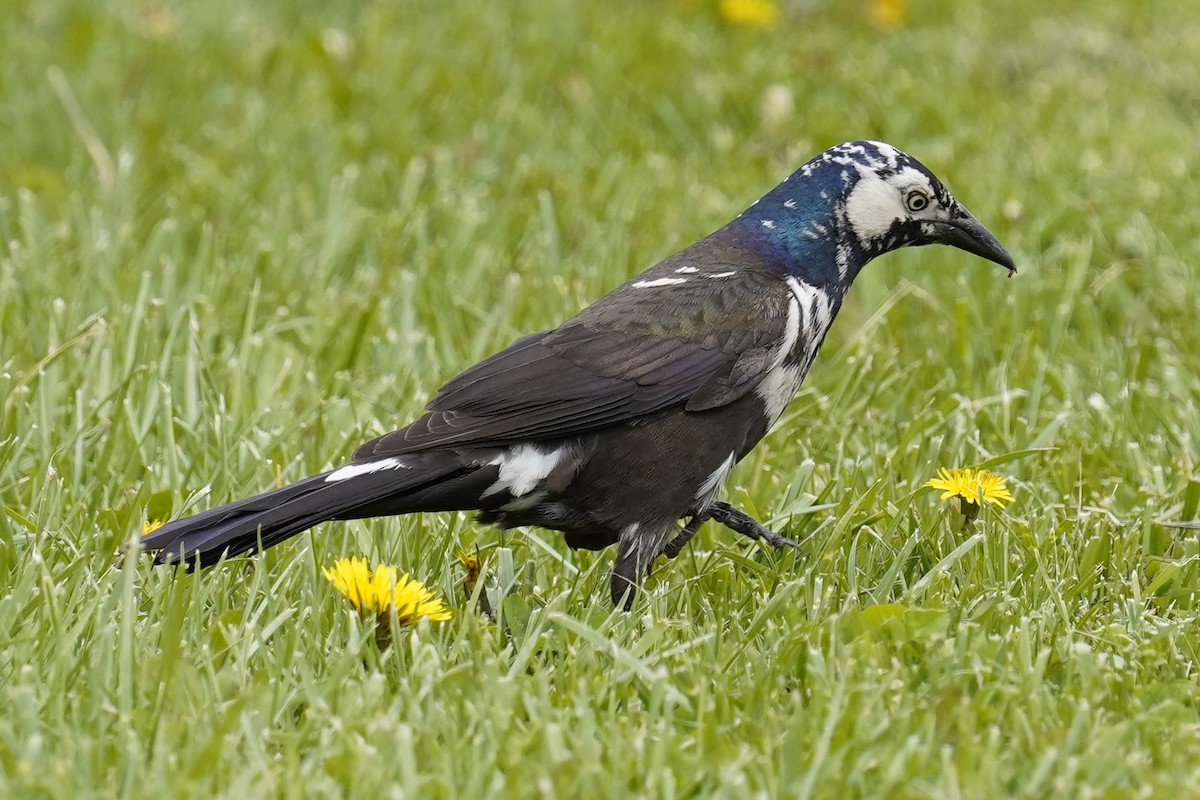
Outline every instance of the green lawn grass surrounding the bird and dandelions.
POLYGON ((1181 796, 1200 782, 1194 4, 11 0, 0 795, 1181 796), (340 7, 344 6, 344 7, 340 7), (786 97, 792 103, 782 102, 786 97), (145 517, 340 463, 848 138, 1021 273, 872 264, 629 615, 610 553, 440 515, 200 576, 145 517), (920 485, 998 459, 960 533, 920 485), (509 548, 533 614, 473 613, 509 548), (370 627, 319 566, 455 607, 370 627))

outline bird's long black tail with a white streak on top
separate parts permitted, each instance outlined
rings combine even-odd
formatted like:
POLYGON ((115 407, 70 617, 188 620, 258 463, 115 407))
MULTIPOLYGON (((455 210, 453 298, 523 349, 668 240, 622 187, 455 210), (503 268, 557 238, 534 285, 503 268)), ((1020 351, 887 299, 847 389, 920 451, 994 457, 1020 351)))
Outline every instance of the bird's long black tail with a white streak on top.
POLYGON ((474 509, 496 476, 494 467, 464 467, 448 452, 352 464, 169 522, 142 546, 156 564, 206 567, 330 519, 474 509))

